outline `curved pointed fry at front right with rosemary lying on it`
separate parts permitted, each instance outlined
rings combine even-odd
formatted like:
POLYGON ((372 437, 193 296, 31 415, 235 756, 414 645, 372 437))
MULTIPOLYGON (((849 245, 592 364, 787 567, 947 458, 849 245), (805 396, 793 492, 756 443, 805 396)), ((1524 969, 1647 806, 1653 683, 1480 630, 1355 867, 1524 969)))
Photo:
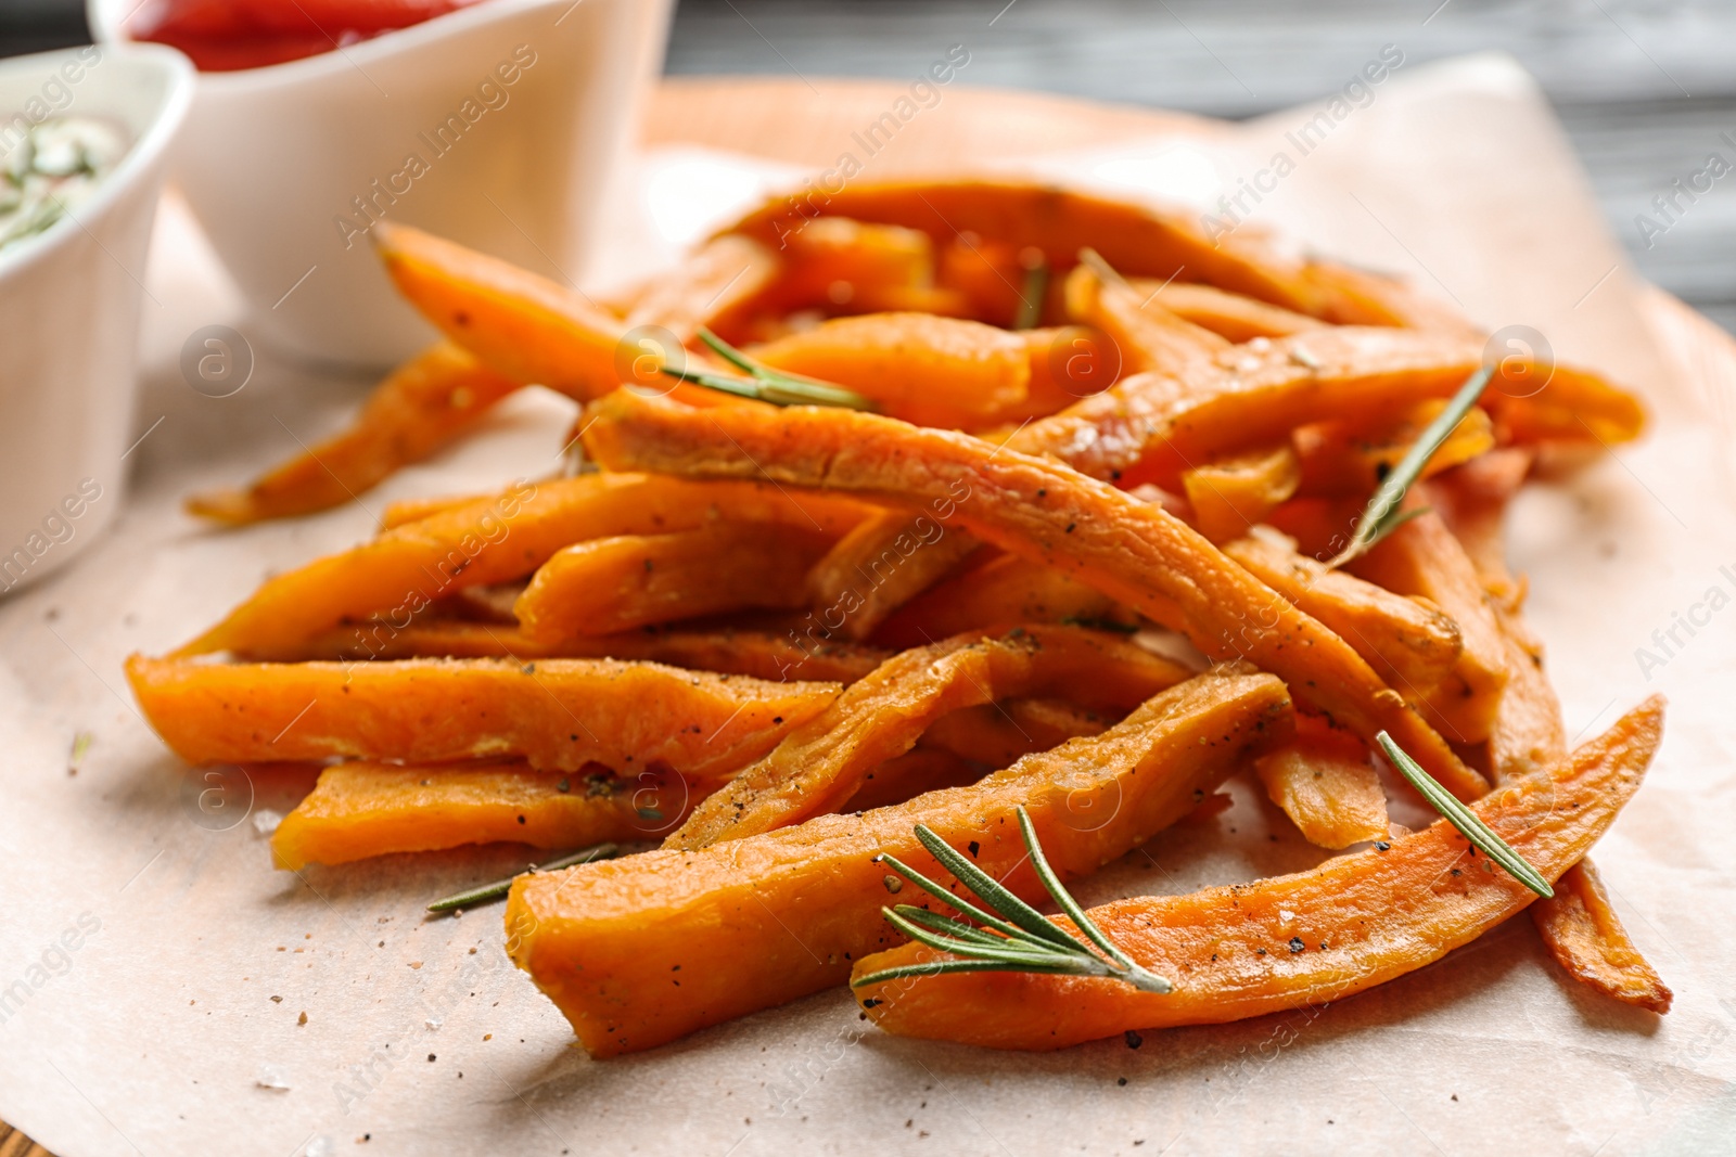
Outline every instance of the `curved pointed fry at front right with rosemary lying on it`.
MULTIPOLYGON (((1559 878, 1639 788, 1661 713, 1661 701, 1647 699, 1569 760, 1472 810, 1547 879, 1559 878)), ((920 977, 856 994, 868 1016, 898 1036, 1055 1049, 1134 1029, 1340 1001, 1476 940, 1533 899, 1439 820, 1385 852, 1340 855, 1314 871, 1090 909, 1111 942, 1175 984, 1168 994, 1031 973, 920 977)), ((936 956, 910 944, 858 961, 856 975, 936 956)))

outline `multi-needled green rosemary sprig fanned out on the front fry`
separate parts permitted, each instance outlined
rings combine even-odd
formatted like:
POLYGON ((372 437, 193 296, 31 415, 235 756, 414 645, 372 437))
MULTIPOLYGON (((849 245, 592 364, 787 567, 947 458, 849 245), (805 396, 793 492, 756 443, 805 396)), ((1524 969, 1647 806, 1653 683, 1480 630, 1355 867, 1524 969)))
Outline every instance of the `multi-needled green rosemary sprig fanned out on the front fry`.
POLYGON ((1036 878, 1043 883, 1043 888, 1049 890, 1049 895, 1085 938, 1097 945, 1101 954, 1092 952, 1090 945, 1068 935, 1066 930, 1016 897, 960 852, 946 847, 946 841, 934 834, 934 831, 917 824, 917 840, 922 847, 958 883, 969 888, 983 907, 953 895, 892 855, 882 855, 880 859, 899 876, 934 899, 950 904, 969 919, 977 921, 981 928, 913 904, 880 909, 887 923, 911 940, 927 944, 930 949, 951 952, 957 959, 882 968, 851 982, 852 987, 859 989, 868 984, 882 984, 903 977, 934 977, 953 971, 1033 971, 1059 977, 1106 977, 1130 984, 1141 992, 1170 992, 1174 985, 1168 980, 1135 964, 1127 952, 1102 935, 1102 930, 1092 923, 1078 900, 1061 886, 1061 879, 1049 866, 1043 848, 1036 841, 1036 829, 1031 826, 1031 817, 1023 807, 1019 808, 1019 833, 1024 836, 1024 847, 1031 853, 1031 867, 1036 869, 1036 878))

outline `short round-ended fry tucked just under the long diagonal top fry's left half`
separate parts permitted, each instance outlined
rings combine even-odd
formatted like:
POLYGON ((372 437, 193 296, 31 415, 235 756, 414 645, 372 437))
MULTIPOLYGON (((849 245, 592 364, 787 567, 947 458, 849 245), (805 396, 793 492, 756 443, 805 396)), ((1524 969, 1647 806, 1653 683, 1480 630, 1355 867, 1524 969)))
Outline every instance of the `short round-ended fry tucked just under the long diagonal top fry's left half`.
POLYGON ((774 522, 594 538, 556 552, 512 609, 540 644, 726 611, 793 611, 807 595, 790 576, 830 546, 825 534, 774 522))

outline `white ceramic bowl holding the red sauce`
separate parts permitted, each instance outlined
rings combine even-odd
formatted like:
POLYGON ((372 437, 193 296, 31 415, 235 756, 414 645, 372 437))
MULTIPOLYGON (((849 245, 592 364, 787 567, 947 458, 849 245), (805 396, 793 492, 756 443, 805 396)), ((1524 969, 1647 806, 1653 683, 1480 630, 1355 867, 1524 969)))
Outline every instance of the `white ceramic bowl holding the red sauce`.
MULTIPOLYGON (((125 40, 135 7, 87 0, 97 40, 125 40)), ((486 0, 337 52, 200 73, 172 175, 247 297, 247 337, 361 366, 434 340, 361 232, 378 215, 583 276, 668 10, 486 0)))

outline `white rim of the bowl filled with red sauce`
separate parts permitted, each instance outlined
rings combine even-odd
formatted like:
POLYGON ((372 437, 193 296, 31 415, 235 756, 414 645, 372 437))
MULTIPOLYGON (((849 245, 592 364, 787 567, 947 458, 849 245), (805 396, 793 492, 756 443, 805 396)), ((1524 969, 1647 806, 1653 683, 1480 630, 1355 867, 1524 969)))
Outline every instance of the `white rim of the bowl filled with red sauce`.
MULTIPOLYGON (((589 2, 595 3, 595 0, 589 2)), ((194 75, 198 76, 201 88, 210 87, 212 90, 226 94, 259 92, 295 85, 307 80, 319 80, 349 68, 356 68, 363 73, 363 76, 366 76, 365 66, 370 62, 415 52, 443 40, 465 36, 521 12, 564 7, 566 12, 556 17, 556 24, 559 24, 566 19, 568 12, 582 3, 587 3, 587 0, 477 0, 476 3, 453 12, 443 12, 441 16, 429 17, 406 28, 394 28, 344 49, 332 49, 330 52, 316 52, 314 56, 304 56, 293 61, 262 64, 259 68, 238 68, 224 73, 205 73, 194 68, 194 75)), ((137 5, 130 0, 85 0, 85 21, 90 26, 90 35, 99 45, 155 43, 148 40, 134 40, 127 35, 125 19, 135 9, 137 5)))

